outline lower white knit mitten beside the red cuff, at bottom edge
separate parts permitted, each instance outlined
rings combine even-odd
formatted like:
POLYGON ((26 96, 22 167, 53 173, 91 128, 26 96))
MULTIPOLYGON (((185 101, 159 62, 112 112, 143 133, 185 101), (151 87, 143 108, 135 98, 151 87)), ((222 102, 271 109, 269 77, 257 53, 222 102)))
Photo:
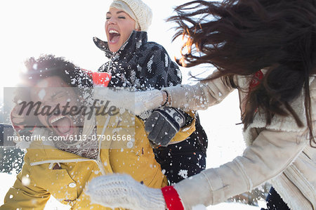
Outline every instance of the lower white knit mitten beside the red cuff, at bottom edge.
POLYGON ((164 210, 161 189, 148 188, 125 174, 112 174, 93 178, 88 183, 86 195, 91 202, 111 208, 133 210, 164 210))

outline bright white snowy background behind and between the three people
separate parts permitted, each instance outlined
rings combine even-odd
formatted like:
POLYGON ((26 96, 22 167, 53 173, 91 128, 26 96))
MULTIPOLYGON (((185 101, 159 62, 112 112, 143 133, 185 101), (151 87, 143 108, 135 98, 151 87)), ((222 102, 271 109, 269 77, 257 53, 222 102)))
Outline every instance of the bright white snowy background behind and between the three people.
MULTIPOLYGON (((149 41, 162 44, 169 52, 171 58, 179 57, 182 41, 176 40, 171 44, 174 34, 174 25, 164 20, 173 11, 173 7, 183 4, 184 0, 143 0, 154 13, 152 25, 148 31, 149 41)), ((105 40, 104 23, 105 13, 111 0, 14 0, 0 2, 0 55, 1 77, 0 98, 3 100, 3 87, 15 86, 18 72, 26 58, 37 57, 43 53, 53 53, 72 60, 75 64, 86 70, 98 70, 105 63, 103 53, 93 44, 92 37, 105 40)), ((212 72, 210 67, 195 67, 185 69, 183 83, 192 84, 188 75, 199 74, 205 71, 212 72)), ((204 73, 206 75, 208 73, 204 73)), ((207 152, 207 168, 220 166, 241 155, 244 150, 242 141, 242 126, 240 122, 237 92, 232 93, 223 103, 200 111, 199 116, 202 126, 206 129, 209 137, 207 152)), ((3 110, 3 103, 0 104, 3 110)), ((2 112, 2 111, 1 111, 2 112)), ((0 113, 1 113, 0 112, 0 113)), ((8 122, 0 114, 0 123, 8 122)), ((0 204, 3 203, 4 195, 15 181, 17 170, 8 171, 10 166, 19 166, 22 158, 16 159, 22 153, 19 151, 9 152, 1 149, 0 172, 0 204), (5 161, 4 161, 5 160, 5 161), (5 163, 4 163, 5 162, 5 163)), ((211 206, 208 209, 260 209, 257 204, 264 206, 263 199, 254 199, 258 194, 263 194, 263 189, 242 195, 237 202, 228 202, 211 206), (254 200, 253 200, 254 199, 254 200), (246 204, 245 204, 246 203, 246 204)), ((53 198, 47 204, 46 209, 67 209, 55 202, 53 198)))

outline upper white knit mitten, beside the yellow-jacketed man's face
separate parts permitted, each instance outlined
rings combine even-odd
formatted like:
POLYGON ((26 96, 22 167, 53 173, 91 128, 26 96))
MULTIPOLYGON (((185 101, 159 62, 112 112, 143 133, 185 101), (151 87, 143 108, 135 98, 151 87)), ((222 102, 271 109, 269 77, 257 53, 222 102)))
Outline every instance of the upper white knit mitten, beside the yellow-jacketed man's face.
POLYGON ((145 111, 153 110, 162 104, 163 95, 161 91, 114 91, 110 88, 95 88, 94 98, 98 100, 109 100, 110 105, 124 108, 139 115, 145 111))

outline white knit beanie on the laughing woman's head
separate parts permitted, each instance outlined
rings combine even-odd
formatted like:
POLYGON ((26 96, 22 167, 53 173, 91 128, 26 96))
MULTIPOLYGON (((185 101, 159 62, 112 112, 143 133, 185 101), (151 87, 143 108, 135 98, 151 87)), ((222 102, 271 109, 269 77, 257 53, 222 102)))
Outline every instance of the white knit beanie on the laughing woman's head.
MULTIPOLYGON (((127 6, 131 8, 131 11, 133 12, 133 15, 130 15, 131 18, 136 17, 135 21, 140 26, 140 30, 147 32, 148 27, 152 24, 152 10, 150 7, 141 0, 113 0, 110 7, 115 8, 115 3, 118 1, 127 4, 127 6)), ((129 12, 126 11, 126 13, 129 12)))

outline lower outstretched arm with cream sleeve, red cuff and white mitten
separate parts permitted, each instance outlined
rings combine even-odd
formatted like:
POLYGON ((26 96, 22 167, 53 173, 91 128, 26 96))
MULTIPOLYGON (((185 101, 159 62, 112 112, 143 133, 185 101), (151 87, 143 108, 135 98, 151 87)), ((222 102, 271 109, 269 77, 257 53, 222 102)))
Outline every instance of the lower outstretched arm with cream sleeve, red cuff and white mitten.
MULTIPOLYGON (((308 144, 302 132, 263 131, 244 155, 216 169, 206 169, 179 183, 159 189, 147 188, 127 175, 101 176, 88 185, 88 195, 98 204, 128 209, 146 209, 147 203, 157 202, 153 209, 182 206, 205 206, 249 191, 275 178, 287 169, 308 144), (279 154, 282 154, 280 156, 279 154), (264 157, 273 161, 267 162, 264 157), (109 203, 110 202, 110 203, 109 203)), ((148 204, 149 205, 149 204, 148 204)))

